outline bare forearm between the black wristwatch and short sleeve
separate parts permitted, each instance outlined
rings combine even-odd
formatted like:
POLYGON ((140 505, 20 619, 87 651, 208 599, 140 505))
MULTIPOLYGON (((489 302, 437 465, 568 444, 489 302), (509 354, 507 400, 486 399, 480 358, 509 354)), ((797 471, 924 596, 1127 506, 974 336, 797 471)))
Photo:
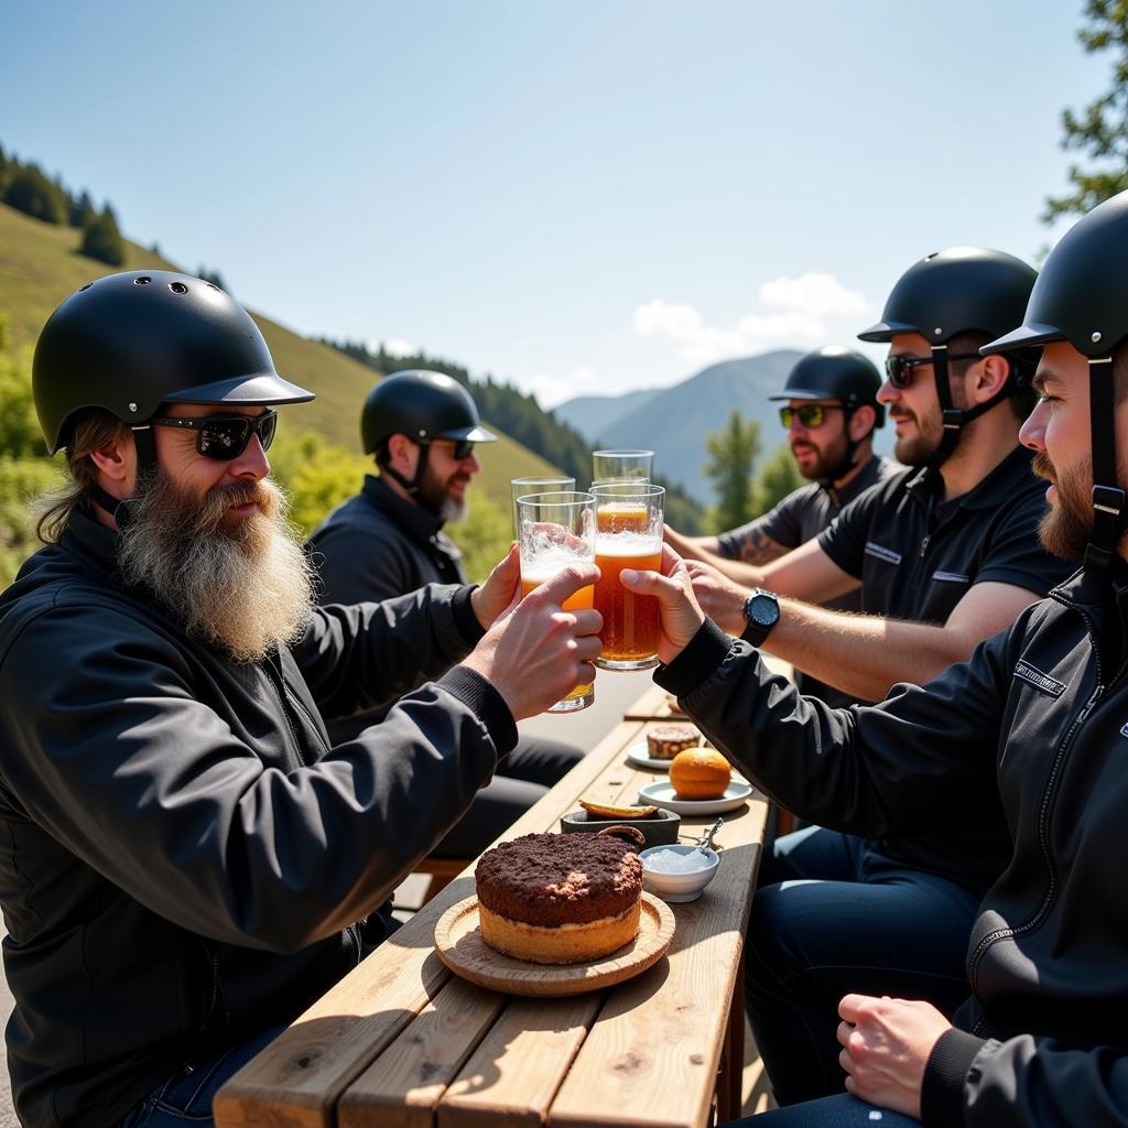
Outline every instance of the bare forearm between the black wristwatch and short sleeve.
POLYGON ((898 681, 923 686, 978 640, 951 627, 831 611, 779 600, 779 622, 764 650, 862 700, 884 700, 898 681))

